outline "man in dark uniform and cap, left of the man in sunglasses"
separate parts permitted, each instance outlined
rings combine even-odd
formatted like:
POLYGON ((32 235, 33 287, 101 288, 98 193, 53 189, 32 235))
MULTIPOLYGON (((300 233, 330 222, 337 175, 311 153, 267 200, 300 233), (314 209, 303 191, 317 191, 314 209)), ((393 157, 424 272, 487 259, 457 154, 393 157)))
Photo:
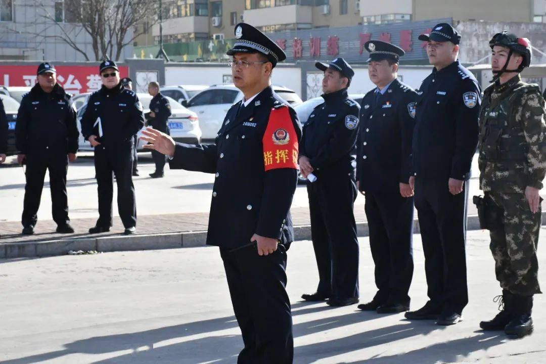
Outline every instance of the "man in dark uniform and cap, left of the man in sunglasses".
POLYGON ((78 126, 70 96, 57 84, 55 67, 41 63, 38 83, 21 100, 15 124, 15 145, 19 164, 26 161, 23 234, 34 234, 38 220, 45 171, 49 169, 51 204, 57 232, 74 232, 68 218, 68 162, 76 160, 78 126))

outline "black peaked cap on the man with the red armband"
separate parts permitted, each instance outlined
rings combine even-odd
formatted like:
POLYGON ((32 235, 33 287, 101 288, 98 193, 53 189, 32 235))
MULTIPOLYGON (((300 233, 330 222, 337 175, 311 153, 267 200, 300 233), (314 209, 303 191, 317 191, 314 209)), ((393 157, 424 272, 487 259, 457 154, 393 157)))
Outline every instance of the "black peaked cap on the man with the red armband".
POLYGON ((239 23, 235 26, 235 44, 225 54, 233 56, 235 53, 260 52, 268 57, 268 61, 277 65, 286 59, 286 54, 267 35, 247 23, 239 23))

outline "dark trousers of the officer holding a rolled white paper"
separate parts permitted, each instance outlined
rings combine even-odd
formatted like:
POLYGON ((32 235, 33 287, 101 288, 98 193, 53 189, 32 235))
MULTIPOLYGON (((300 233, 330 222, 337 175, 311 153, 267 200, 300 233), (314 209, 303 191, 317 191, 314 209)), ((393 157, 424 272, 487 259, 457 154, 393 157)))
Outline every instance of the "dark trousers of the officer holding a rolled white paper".
POLYGON ((321 175, 307 184, 311 238, 317 259, 317 291, 338 299, 358 297, 359 248, 353 205, 354 178, 347 174, 321 175))

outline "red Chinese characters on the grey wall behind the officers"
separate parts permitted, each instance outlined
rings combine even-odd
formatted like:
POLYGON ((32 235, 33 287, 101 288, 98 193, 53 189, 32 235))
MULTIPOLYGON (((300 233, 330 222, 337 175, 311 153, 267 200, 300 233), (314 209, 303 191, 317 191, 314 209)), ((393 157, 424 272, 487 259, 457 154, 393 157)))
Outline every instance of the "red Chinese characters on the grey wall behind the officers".
MULTIPOLYGON (((432 31, 431 28, 425 29, 422 33, 430 33, 432 31)), ((419 33, 419 34, 422 34, 419 33)), ((411 52, 413 50, 413 30, 412 29, 406 29, 400 31, 400 41, 397 44, 401 49, 403 49, 406 52, 411 52)), ((359 34, 359 41, 360 46, 358 53, 361 55, 364 53, 364 44, 372 39, 382 40, 386 41, 388 43, 391 43, 391 33, 388 32, 381 32, 375 34, 375 37, 372 37, 372 33, 360 33, 359 34)), ((330 35, 326 41, 326 54, 329 56, 337 56, 340 54, 339 49, 339 37, 337 35, 330 35)), ((281 49, 286 50, 286 39, 277 39, 275 41, 278 46, 281 47, 281 49)), ((421 47, 424 48, 426 46, 426 42, 422 42, 421 47)), ((321 56, 321 38, 320 37, 311 37, 308 43, 309 47, 309 56, 310 57, 320 57, 321 56)), ((294 38, 292 40, 292 56, 294 58, 302 58, 303 57, 303 51, 304 51, 304 44, 300 38, 294 38)))

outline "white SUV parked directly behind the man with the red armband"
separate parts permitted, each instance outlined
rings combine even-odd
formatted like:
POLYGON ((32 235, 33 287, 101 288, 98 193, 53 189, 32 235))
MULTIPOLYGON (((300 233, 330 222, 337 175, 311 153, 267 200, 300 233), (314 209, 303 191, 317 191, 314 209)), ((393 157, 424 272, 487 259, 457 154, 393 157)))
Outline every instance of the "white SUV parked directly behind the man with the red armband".
MULTIPOLYGON (((292 106, 302 103, 298 94, 289 88, 273 86, 273 90, 292 106)), ((216 138, 225 114, 233 104, 239 102, 242 98, 242 92, 231 83, 213 85, 189 100, 187 108, 197 113, 203 139, 212 140, 216 138)))

